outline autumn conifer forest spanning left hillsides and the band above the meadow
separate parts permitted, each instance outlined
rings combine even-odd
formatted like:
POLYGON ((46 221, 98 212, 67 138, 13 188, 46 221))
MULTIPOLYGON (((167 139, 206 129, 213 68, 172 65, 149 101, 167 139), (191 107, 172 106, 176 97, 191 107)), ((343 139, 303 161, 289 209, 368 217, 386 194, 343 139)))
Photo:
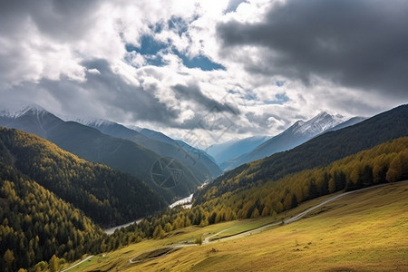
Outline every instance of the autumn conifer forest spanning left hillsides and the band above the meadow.
MULTIPOLYGON (((282 212, 307 199, 408 179, 408 137, 403 137, 281 179, 257 180, 225 193, 214 187, 202 189, 205 200, 192 209, 154 213, 154 203, 150 210, 146 205, 136 206, 137 200, 154 200, 151 190, 139 192, 141 199, 127 197, 145 189, 137 187, 131 176, 81 160, 34 135, 0 129, 0 151, 2 271, 57 271, 63 262, 83 254, 165 238, 175 229, 266 216, 278 220, 282 212), (151 199, 142 199, 143 195, 151 199), (126 206, 128 201, 134 201, 134 206, 126 206), (145 218, 139 224, 109 236, 97 225, 120 222, 143 211, 145 218)), ((228 184, 239 184, 241 179, 253 179, 253 175, 243 173, 228 184)))

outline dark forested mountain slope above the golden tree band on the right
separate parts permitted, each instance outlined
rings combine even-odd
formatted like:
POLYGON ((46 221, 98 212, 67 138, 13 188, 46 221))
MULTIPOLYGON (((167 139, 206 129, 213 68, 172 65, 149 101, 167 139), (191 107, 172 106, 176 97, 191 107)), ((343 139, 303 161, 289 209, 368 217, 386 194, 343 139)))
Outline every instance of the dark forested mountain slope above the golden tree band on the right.
POLYGON ((358 151, 371 149, 375 145, 406 135, 408 105, 402 105, 353 126, 328 131, 290 151, 279 152, 230 170, 199 191, 195 195, 196 202, 216 198, 227 191, 250 187, 259 182, 278 180, 301 170, 323 167, 358 151))

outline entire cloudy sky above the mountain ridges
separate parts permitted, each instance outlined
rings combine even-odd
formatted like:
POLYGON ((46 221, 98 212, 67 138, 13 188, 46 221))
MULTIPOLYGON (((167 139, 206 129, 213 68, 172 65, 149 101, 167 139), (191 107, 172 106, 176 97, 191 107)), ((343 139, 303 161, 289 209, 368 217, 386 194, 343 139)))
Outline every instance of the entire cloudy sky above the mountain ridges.
POLYGON ((0 0, 0 106, 206 146, 408 102, 405 0, 0 0))

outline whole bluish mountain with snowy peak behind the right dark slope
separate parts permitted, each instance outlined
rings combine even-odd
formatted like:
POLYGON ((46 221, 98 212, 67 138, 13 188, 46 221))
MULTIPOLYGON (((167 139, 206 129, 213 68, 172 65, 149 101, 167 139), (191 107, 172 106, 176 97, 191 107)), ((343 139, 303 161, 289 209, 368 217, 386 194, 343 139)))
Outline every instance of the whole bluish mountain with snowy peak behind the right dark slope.
POLYGON ((325 131, 335 130, 354 124, 358 118, 345 121, 341 115, 320 112, 309 121, 296 121, 286 131, 258 145, 254 150, 224 162, 226 170, 231 170, 249 161, 266 158, 280 151, 288 151, 325 131), (341 126, 342 125, 342 126, 341 126))

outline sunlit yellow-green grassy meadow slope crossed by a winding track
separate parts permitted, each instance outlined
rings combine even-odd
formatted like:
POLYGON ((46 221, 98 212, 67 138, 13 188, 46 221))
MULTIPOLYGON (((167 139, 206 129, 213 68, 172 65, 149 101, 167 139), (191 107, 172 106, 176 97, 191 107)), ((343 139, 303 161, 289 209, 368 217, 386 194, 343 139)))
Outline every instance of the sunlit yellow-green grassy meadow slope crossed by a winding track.
MULTIPOLYGON (((312 200, 314 203, 320 199, 312 200)), ((297 207, 301 211, 310 201, 297 207)), ((284 216, 284 214, 279 215, 284 216)), ((260 219, 265 220, 265 219, 260 219)), ((82 271, 404 271, 408 269, 408 183, 350 194, 308 218, 244 238, 192 246, 131 264, 141 253, 205 238, 247 219, 189 227, 94 257, 82 271)), ((144 254, 143 256, 146 256, 144 254)), ((70 271, 76 271, 74 269, 70 271)))

